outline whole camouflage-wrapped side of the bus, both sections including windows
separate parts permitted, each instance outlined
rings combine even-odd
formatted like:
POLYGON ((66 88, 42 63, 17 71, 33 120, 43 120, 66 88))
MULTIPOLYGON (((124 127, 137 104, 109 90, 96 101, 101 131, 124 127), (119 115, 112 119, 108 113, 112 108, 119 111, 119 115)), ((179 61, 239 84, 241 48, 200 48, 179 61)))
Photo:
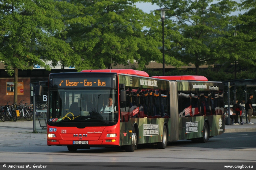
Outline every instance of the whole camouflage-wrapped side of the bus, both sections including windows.
POLYGON ((164 125, 168 142, 202 138, 204 123, 209 137, 225 131, 222 82, 176 82, 118 74, 118 83, 125 85, 120 90, 126 95, 126 101, 120 102, 120 146, 132 144, 133 127, 138 144, 161 142, 164 125), (173 90, 175 96, 170 95, 173 90), (174 103, 177 109, 171 109, 174 103))

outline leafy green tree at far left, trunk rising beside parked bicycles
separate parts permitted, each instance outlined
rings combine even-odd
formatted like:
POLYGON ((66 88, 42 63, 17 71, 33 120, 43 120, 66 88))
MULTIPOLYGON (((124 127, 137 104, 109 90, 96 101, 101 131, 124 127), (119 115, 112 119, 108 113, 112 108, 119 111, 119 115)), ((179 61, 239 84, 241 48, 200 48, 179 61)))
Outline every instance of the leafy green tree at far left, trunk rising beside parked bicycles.
MULTIPOLYGON (((53 0, 2 0, 0 2, 0 61, 14 76, 18 69, 33 69, 39 64, 49 70, 47 60, 60 61, 72 52, 69 45, 57 38, 64 24, 53 0)), ((17 102, 15 90, 14 102, 17 102)))

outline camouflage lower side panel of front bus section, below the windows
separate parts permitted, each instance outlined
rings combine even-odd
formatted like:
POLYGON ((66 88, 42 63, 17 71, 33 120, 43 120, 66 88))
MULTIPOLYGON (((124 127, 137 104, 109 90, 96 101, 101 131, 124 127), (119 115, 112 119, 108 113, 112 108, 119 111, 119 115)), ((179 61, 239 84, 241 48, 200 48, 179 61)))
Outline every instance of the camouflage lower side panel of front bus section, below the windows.
MULTIPOLYGON (((132 144, 133 126, 138 129, 138 144, 161 142, 163 126, 166 125, 169 132, 170 119, 140 118, 130 119, 128 122, 120 123, 120 146, 132 144)), ((170 135, 168 135, 170 138, 170 135)), ((170 139, 168 139, 170 140, 170 139)))

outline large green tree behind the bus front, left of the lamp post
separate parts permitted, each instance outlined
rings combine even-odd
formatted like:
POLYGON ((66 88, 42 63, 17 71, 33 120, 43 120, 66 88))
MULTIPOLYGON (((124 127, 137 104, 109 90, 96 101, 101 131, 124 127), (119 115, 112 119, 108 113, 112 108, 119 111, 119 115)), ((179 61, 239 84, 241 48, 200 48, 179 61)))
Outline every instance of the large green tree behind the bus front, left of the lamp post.
MULTIPOLYGON (((135 7, 139 0, 95 0, 70 2, 80 12, 67 15, 67 41, 80 56, 76 69, 106 69, 111 64, 139 62, 143 69, 161 57, 161 41, 147 34, 148 14, 135 7)), ((148 1, 148 0, 144 0, 148 1)))

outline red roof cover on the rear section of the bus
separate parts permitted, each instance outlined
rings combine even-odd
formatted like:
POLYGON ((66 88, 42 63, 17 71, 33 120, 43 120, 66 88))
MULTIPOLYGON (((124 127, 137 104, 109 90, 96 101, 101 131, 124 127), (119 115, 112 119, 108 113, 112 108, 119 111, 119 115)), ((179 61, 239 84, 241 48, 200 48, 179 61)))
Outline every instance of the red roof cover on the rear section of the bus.
POLYGON ((208 81, 204 76, 153 76, 152 78, 159 78, 165 80, 195 80, 195 81, 208 81))

